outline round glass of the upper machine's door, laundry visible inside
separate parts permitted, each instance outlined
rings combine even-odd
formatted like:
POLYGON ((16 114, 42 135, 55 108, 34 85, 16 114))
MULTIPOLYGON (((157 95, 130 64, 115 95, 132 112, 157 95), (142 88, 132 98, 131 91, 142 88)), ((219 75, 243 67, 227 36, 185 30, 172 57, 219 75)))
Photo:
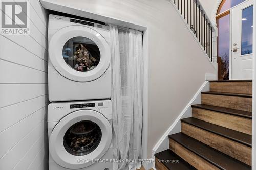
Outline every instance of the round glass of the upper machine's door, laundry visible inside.
POLYGON ((100 61, 98 46, 89 38, 74 37, 66 42, 63 59, 74 70, 87 72, 97 67, 100 61))

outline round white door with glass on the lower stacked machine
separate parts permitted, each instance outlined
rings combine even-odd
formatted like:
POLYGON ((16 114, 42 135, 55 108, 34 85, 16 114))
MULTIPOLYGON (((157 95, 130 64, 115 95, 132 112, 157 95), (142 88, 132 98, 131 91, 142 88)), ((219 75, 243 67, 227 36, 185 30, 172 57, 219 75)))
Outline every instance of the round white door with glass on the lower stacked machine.
POLYGON ((111 140, 111 125, 106 117, 93 110, 79 110, 63 117, 54 127, 49 150, 60 166, 80 169, 100 159, 111 140))

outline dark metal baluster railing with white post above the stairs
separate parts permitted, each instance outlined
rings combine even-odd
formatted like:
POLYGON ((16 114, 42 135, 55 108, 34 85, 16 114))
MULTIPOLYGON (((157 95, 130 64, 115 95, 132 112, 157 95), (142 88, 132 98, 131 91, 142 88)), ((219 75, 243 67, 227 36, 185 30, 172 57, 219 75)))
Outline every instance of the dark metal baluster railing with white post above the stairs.
POLYGON ((199 0, 170 0, 174 3, 191 31, 212 62, 216 62, 217 31, 199 0))

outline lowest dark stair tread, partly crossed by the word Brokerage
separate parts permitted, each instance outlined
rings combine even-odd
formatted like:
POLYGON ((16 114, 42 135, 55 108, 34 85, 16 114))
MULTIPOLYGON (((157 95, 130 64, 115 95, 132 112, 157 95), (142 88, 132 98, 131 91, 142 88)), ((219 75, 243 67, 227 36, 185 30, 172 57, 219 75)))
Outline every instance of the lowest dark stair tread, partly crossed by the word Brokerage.
POLYGON ((181 157, 179 157, 177 154, 175 154, 173 151, 171 150, 165 150, 162 152, 159 152, 157 154, 155 154, 155 156, 161 161, 162 164, 164 164, 165 167, 167 167, 167 169, 172 169, 172 170, 196 170, 195 167, 191 166, 189 163, 187 163, 184 159, 182 159, 181 157), (171 161, 171 160, 179 160, 179 163, 174 163, 174 162, 166 162, 167 161, 171 161))

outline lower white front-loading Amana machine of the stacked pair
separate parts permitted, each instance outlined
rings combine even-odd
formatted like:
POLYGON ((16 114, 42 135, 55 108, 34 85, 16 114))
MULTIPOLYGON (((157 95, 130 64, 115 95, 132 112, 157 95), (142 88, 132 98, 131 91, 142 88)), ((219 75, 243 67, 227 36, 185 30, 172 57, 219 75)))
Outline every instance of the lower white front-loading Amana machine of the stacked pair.
POLYGON ((112 170, 110 100, 48 106, 49 170, 112 170))

